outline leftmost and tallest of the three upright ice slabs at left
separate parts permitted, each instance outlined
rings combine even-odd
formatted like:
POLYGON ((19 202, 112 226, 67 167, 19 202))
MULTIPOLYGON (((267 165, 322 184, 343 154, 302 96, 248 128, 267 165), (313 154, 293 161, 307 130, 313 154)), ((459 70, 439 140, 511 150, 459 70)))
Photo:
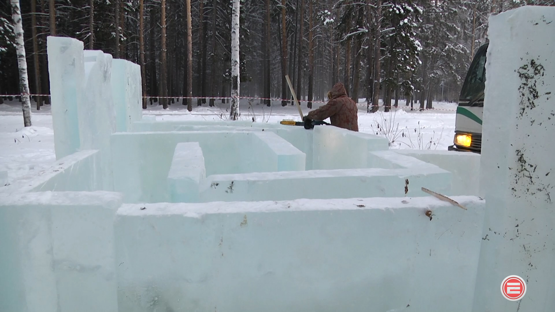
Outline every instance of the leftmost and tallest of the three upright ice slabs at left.
POLYGON ((60 159, 80 148, 78 109, 83 101, 83 42, 49 36, 47 50, 54 150, 56 159, 60 159))

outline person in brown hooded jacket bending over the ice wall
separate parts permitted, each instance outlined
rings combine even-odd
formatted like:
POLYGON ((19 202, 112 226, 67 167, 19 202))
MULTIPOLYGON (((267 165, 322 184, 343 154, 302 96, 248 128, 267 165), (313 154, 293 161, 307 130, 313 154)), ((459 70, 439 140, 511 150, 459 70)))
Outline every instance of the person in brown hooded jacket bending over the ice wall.
MULTIPOLYGON (((310 124, 312 120, 322 121, 330 118, 331 125, 352 131, 359 131, 358 108, 351 98, 347 97, 345 86, 338 82, 327 93, 330 100, 326 105, 312 110, 304 118, 305 124, 310 124)), ((306 127, 305 127, 306 128, 306 127)))

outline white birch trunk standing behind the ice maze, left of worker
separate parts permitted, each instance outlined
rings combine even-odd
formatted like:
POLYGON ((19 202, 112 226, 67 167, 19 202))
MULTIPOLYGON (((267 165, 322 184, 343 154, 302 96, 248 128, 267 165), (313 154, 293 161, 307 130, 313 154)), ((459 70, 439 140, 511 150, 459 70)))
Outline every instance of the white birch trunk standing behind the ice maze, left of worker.
POLYGON ((231 11, 231 120, 239 119, 239 1, 233 0, 231 11))

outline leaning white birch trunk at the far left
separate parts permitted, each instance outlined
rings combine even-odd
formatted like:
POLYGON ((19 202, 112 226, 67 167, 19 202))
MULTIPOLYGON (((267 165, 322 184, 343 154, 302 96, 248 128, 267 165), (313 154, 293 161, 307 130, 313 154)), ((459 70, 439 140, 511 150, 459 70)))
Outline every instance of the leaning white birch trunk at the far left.
POLYGON ((13 32, 16 39, 17 67, 19 68, 19 92, 23 109, 23 124, 31 126, 31 101, 29 100, 29 81, 27 78, 27 59, 23 40, 23 22, 19 0, 10 0, 12 6, 13 32))

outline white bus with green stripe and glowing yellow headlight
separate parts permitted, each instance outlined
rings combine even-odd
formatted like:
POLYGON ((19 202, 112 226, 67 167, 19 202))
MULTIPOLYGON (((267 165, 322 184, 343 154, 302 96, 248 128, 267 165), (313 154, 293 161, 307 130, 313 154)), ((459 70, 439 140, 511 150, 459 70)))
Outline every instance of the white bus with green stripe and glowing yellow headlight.
POLYGON ((481 153, 487 47, 488 43, 478 48, 466 73, 458 99, 455 138, 448 150, 481 153))

